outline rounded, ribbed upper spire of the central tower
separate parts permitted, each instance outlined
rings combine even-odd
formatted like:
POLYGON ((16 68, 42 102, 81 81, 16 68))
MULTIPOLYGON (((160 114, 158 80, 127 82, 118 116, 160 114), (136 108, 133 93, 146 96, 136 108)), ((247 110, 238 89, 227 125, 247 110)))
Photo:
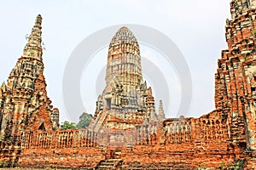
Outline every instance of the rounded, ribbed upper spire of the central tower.
POLYGON ((115 77, 122 77, 120 83, 138 84, 143 80, 139 45, 136 37, 125 26, 117 31, 108 48, 106 82, 113 82, 115 77), (130 80, 125 74, 135 77, 130 80))

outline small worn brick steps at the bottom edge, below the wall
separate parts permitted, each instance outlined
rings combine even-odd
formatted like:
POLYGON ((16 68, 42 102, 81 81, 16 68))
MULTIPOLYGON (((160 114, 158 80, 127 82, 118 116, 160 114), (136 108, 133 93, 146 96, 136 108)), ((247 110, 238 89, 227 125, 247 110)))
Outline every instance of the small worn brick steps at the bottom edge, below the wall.
POLYGON ((121 159, 106 159, 100 161, 97 166, 96 170, 104 170, 104 169, 121 169, 123 161, 121 159))

